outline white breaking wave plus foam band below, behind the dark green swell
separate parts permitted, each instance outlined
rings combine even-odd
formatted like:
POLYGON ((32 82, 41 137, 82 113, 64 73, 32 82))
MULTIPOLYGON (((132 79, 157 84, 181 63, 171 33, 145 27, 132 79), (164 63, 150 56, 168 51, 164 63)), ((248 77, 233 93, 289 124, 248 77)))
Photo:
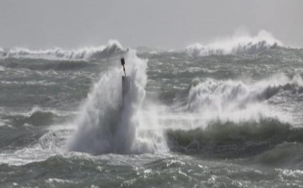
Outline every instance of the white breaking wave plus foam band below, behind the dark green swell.
POLYGON ((214 121, 259 122, 264 118, 293 124, 291 112, 281 111, 285 109, 283 105, 291 104, 271 104, 281 101, 280 95, 291 99, 293 90, 283 88, 287 84, 298 88, 303 86, 303 80, 300 75, 290 78, 283 73, 254 83, 211 78, 201 80, 190 88, 187 104, 176 112, 163 113, 161 121, 173 129, 205 128, 214 121))

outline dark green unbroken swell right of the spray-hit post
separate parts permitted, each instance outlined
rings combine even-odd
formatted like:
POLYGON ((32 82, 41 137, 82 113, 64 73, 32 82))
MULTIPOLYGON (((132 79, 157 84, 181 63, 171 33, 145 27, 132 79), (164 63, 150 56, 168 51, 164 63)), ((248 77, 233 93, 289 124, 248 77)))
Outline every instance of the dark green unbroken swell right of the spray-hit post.
POLYGON ((167 130, 171 151, 223 158, 260 154, 284 142, 302 143, 302 128, 274 119, 260 122, 213 122, 207 128, 167 130))

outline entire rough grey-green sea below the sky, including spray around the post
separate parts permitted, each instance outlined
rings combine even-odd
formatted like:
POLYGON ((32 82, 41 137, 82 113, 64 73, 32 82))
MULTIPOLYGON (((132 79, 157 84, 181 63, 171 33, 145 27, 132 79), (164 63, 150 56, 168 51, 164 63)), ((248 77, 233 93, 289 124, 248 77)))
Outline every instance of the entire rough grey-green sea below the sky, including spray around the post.
POLYGON ((0 55, 0 187, 303 186, 303 50, 265 31, 0 55))

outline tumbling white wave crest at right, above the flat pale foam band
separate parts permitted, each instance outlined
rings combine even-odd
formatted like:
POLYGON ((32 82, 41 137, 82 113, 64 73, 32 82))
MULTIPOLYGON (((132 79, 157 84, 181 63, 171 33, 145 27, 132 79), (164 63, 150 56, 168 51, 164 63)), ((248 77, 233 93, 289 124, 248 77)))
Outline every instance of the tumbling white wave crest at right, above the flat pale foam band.
POLYGON ((233 80, 206 79, 189 90, 186 110, 205 117, 205 120, 258 120, 260 117, 277 117, 268 100, 280 91, 293 96, 303 92, 303 80, 299 74, 276 74, 256 83, 233 80))

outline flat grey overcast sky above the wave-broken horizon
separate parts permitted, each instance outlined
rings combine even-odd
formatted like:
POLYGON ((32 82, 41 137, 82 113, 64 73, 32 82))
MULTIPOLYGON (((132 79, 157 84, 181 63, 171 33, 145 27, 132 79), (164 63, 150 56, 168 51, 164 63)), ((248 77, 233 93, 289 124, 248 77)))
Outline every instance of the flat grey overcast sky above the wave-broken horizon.
POLYGON ((77 49, 117 39, 124 46, 184 49, 195 42, 272 33, 303 47, 303 1, 297 0, 0 0, 0 46, 77 49))

